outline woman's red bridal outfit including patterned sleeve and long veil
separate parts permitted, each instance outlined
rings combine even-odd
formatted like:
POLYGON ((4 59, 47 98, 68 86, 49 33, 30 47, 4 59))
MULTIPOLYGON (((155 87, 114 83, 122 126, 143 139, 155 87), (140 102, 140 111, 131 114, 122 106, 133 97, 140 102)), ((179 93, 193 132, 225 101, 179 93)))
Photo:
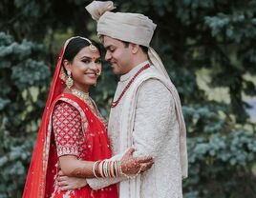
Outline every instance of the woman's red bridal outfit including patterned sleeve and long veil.
POLYGON ((60 78, 63 53, 62 49, 33 149, 23 198, 117 198, 117 185, 99 190, 93 190, 87 185, 64 191, 54 185, 58 156, 72 154, 86 161, 111 157, 102 117, 96 116, 75 95, 62 93, 66 87, 60 78))

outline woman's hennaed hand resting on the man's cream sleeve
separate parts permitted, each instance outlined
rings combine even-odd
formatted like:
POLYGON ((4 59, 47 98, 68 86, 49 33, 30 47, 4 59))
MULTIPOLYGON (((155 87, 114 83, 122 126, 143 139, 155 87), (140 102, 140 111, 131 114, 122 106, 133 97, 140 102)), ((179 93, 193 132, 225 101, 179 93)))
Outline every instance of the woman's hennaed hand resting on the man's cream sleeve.
POLYGON ((121 158, 121 170, 127 175, 135 175, 151 168, 154 164, 152 157, 133 157, 135 148, 130 148, 121 158))

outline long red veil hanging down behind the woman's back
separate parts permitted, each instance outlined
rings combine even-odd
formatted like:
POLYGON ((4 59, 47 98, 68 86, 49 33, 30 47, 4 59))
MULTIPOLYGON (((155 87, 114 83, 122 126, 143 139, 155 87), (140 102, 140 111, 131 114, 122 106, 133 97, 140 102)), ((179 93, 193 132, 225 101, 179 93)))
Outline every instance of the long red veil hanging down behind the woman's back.
POLYGON ((46 106, 43 112, 42 121, 38 130, 37 139, 32 152, 31 166, 29 168, 27 181, 23 191, 23 197, 45 197, 46 175, 48 167, 48 156, 45 156, 47 146, 46 131, 50 119, 50 108, 53 100, 66 87, 64 82, 60 79, 62 69, 64 48, 61 49, 56 68, 53 75, 51 89, 49 91, 46 106))

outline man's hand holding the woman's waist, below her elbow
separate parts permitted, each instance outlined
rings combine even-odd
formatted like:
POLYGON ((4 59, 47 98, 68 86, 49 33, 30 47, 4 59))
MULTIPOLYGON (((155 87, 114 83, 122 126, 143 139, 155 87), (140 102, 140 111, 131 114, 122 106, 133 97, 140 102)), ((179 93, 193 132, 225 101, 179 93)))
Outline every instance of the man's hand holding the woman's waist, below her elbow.
POLYGON ((83 188, 87 185, 85 178, 68 177, 60 170, 57 176, 57 186, 61 190, 72 190, 77 188, 83 188))

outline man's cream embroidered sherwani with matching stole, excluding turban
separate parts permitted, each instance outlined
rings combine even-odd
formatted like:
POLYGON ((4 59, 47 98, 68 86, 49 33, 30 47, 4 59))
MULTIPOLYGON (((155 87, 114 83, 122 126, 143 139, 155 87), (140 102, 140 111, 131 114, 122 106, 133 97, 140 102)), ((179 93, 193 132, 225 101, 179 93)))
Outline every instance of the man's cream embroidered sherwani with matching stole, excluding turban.
MULTIPOLYGON (((114 101, 147 63, 120 77, 114 101)), ((143 70, 117 107, 111 109, 108 132, 112 159, 120 159, 127 148, 134 146, 135 156, 153 156, 155 164, 136 179, 88 179, 88 184, 103 188, 120 182, 120 198, 181 198, 181 140, 176 105, 168 82, 158 70, 143 70)))

